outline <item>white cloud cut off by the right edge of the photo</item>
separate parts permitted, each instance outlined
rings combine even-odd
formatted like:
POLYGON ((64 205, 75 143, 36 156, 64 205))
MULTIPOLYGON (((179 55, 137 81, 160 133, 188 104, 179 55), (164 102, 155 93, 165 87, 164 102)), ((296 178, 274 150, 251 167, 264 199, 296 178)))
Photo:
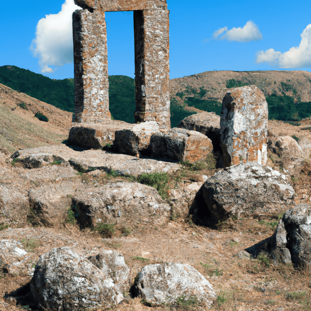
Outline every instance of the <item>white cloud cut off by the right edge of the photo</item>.
POLYGON ((299 47, 292 47, 281 53, 274 49, 258 51, 256 63, 269 63, 278 68, 305 68, 311 67, 311 24, 300 35, 299 47))

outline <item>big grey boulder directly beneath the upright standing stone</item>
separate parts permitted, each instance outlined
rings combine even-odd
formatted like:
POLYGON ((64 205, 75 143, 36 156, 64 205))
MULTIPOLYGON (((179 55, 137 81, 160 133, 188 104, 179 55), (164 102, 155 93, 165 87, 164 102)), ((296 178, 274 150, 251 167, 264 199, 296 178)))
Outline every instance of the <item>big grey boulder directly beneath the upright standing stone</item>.
POLYGON ((252 163, 233 165, 207 179, 190 208, 193 221, 215 225, 228 217, 273 213, 294 204, 288 176, 252 163))

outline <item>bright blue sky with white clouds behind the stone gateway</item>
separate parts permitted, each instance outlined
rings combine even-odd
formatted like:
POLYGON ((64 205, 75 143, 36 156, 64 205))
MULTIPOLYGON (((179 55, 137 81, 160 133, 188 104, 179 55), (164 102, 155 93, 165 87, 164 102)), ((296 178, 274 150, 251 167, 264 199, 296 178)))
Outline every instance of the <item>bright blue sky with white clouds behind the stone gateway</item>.
MULTIPOLYGON (((63 10, 65 0, 2 3, 0 66, 73 77, 72 1, 63 10)), ((167 3, 170 78, 209 70, 311 71, 311 1, 167 3)), ((109 75, 134 77, 132 12, 107 12, 106 22, 109 75)))

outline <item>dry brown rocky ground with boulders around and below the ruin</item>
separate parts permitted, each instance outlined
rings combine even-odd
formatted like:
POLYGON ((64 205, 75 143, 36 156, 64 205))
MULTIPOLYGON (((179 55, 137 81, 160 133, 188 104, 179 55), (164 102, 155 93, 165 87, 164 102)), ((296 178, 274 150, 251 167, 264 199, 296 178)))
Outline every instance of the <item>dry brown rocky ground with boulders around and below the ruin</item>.
MULTIPOLYGON (((266 167, 216 168, 66 145, 69 113, 1 87, 1 310, 311 309, 311 120, 268 121, 266 167)), ((183 127, 214 147, 220 118, 183 127)))

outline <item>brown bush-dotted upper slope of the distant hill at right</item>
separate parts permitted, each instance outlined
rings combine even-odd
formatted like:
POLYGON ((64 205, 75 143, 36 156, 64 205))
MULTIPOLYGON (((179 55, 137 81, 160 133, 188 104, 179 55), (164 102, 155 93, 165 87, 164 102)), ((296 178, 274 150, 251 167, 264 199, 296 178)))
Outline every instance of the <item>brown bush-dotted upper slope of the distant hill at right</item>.
POLYGON ((293 96, 297 101, 311 101, 311 72, 308 71, 206 71, 183 78, 170 80, 170 94, 189 93, 189 89, 204 87, 207 90, 203 99, 222 101, 229 88, 256 85, 266 96, 293 96), (188 90, 187 90, 188 87, 188 90))

